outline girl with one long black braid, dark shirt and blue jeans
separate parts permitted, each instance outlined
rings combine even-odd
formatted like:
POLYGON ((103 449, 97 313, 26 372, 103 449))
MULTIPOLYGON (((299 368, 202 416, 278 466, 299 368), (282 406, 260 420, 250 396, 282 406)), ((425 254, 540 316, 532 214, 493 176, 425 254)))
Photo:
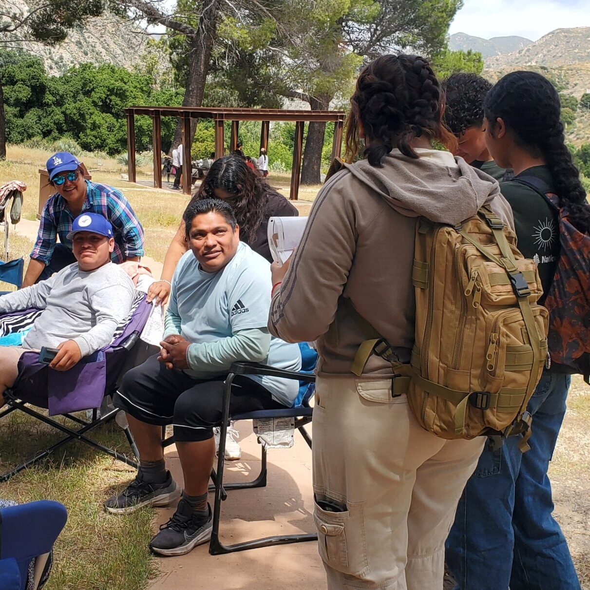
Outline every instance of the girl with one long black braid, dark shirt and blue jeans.
MULTIPOLYGON (((559 196, 579 231, 590 228, 586 192, 563 137, 558 93, 540 74, 516 71, 489 91, 484 114, 490 155, 501 168, 514 169, 500 191, 512 206, 519 250, 536 261, 547 294, 560 245, 558 212, 543 194, 559 196)), ((520 453, 519 437, 512 437, 481 455, 447 539, 457 588, 580 588, 568 543, 552 516, 547 475, 569 385, 559 365, 548 366, 527 407, 533 416, 530 451, 520 453)))

